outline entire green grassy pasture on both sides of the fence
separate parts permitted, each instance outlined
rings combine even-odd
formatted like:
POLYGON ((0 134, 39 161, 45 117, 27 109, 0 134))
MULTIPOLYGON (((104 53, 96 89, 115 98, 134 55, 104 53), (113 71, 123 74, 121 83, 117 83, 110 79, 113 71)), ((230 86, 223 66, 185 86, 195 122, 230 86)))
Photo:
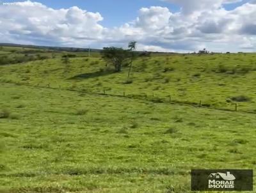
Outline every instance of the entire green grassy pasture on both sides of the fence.
POLYGON ((81 56, 0 66, 1 192, 181 193, 191 169, 255 169, 256 54, 153 55, 129 80, 81 56))

